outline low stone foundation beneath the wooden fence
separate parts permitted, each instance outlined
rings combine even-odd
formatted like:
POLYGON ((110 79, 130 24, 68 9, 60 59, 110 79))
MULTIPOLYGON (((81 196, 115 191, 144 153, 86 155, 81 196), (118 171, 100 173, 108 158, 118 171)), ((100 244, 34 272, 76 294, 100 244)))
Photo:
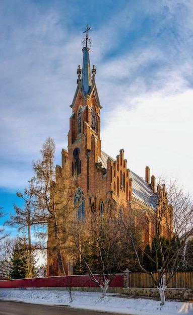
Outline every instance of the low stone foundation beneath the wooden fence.
MULTIPOLYGON (((123 292, 131 295, 160 297, 159 290, 155 288, 123 288, 123 292)), ((168 288, 165 290, 165 298, 193 301, 193 289, 168 288)))

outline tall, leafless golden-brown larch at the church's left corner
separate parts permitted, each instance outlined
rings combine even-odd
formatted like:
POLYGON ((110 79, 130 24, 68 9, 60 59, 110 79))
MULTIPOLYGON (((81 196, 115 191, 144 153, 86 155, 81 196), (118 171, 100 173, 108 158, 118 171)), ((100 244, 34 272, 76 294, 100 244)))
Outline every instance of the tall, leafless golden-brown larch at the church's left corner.
MULTIPOLYGON (((48 235, 46 248, 49 275, 52 275, 52 270, 57 270, 57 275, 66 275, 62 248, 67 241, 67 235, 61 233, 61 226, 62 230, 65 229, 72 208, 72 178, 70 179, 67 165, 63 168, 54 167, 55 143, 52 138, 45 140, 40 153, 41 158, 33 161, 34 176, 29 181, 29 191, 26 191, 33 207, 32 224, 38 227, 36 232, 42 242, 47 241, 48 235)), ((71 288, 68 284, 66 288, 72 300, 71 288)))

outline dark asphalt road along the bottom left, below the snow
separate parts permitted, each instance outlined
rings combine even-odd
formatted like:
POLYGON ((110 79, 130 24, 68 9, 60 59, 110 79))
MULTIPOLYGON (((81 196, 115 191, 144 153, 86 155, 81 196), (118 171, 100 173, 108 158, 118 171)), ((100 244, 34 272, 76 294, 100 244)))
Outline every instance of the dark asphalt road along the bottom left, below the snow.
MULTIPOLYGON (((104 315, 104 312, 98 312, 87 309, 75 309, 65 305, 39 305, 15 301, 0 301, 0 315, 104 315)), ((106 315, 112 313, 105 312, 106 315)))

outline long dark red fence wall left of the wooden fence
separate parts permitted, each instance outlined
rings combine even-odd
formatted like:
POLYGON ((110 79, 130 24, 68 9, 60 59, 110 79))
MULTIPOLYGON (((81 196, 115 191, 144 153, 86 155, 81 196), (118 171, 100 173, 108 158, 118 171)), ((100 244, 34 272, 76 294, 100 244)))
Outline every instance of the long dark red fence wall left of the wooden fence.
MULTIPOLYGON (((98 275, 95 275, 100 280, 98 275)), ((17 280, 2 280, 0 288, 39 288, 39 287, 98 287, 89 275, 45 277, 17 280)), ((123 274, 117 274, 112 279, 110 287, 123 287, 123 274)))

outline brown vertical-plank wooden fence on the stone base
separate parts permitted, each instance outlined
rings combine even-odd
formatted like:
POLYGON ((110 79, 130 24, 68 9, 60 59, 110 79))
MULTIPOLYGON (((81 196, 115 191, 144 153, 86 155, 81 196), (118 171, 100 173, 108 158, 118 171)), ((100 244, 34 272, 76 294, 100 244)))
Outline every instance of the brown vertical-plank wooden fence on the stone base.
MULTIPOLYGON (((153 272, 157 276, 156 272, 153 272)), ((165 273, 165 282, 170 273, 165 273)), ((127 277, 125 274, 124 277, 127 277)), ((155 288, 151 276, 144 272, 128 273, 127 286, 130 288, 155 288)), ((124 281, 125 283, 126 281, 124 281)), ((193 272, 176 272, 172 277, 168 288, 193 288, 193 272)))

